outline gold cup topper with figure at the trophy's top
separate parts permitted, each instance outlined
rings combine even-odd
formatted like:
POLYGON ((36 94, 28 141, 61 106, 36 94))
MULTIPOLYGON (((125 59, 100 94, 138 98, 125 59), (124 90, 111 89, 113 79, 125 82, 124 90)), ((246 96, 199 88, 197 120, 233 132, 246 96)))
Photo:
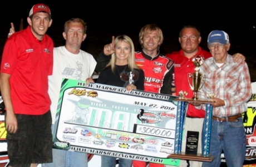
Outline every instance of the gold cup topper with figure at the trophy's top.
POLYGON ((204 59, 201 57, 201 55, 195 55, 192 61, 195 64, 195 72, 193 74, 188 73, 188 81, 189 78, 192 78, 192 85, 189 81, 190 88, 194 92, 194 97, 192 99, 197 100, 198 97, 196 97, 196 94, 203 87, 206 77, 205 75, 199 73, 200 65, 204 63, 204 59))

